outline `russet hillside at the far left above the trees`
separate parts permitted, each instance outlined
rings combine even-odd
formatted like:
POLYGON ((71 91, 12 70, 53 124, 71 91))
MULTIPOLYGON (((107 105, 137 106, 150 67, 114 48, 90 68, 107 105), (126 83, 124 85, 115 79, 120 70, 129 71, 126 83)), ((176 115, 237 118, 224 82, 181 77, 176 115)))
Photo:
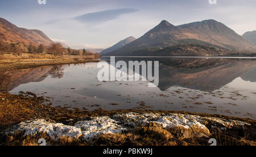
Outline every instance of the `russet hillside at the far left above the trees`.
POLYGON ((0 41, 10 42, 24 42, 24 44, 34 44, 38 46, 43 44, 49 46, 54 43, 42 31, 27 30, 26 28, 19 28, 6 19, 0 18, 0 41))

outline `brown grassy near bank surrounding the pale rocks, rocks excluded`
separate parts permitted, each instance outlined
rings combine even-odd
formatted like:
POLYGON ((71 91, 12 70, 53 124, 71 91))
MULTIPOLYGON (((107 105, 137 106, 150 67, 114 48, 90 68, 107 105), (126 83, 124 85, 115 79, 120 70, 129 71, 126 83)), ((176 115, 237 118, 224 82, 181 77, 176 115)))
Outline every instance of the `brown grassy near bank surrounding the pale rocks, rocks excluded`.
POLYGON ((38 145, 37 141, 44 138, 53 145, 129 145, 129 146, 158 146, 158 145, 209 145, 210 138, 215 138, 218 145, 255 145, 256 121, 252 119, 225 117, 222 115, 196 114, 175 111, 147 111, 147 110, 117 110, 95 111, 69 110, 67 108, 53 108, 50 102, 43 97, 37 97, 33 93, 23 93, 13 95, 10 93, 0 94, 0 123, 1 130, 7 129, 15 124, 27 120, 46 119, 52 123, 63 123, 73 126, 76 122, 85 121, 98 116, 112 116, 124 113, 152 113, 170 114, 179 113, 184 115, 199 115, 201 117, 216 117, 222 119, 233 119, 241 122, 250 123, 250 126, 233 126, 224 130, 211 127, 214 122, 208 121, 209 133, 198 128, 185 129, 184 127, 164 128, 155 123, 148 123, 146 126, 138 126, 128 129, 122 134, 102 134, 98 135, 93 141, 84 141, 81 138, 73 139, 61 137, 57 140, 50 138, 46 134, 34 134, 23 136, 23 133, 5 135, 1 137, 2 145, 38 145), (46 104, 46 105, 44 105, 46 104))

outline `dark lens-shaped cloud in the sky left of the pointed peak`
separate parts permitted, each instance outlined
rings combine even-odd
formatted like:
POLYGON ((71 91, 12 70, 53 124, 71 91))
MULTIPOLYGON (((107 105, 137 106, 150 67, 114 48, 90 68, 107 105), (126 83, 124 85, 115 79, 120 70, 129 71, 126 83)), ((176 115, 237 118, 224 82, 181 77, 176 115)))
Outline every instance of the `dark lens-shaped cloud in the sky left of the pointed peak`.
POLYGON ((137 9, 113 9, 113 10, 104 10, 104 11, 97 11, 94 13, 88 13, 80 16, 76 16, 75 18, 72 18, 74 20, 77 20, 81 23, 86 24, 100 24, 108 22, 109 20, 117 19, 119 16, 123 14, 129 14, 129 13, 135 13, 137 12, 137 9))

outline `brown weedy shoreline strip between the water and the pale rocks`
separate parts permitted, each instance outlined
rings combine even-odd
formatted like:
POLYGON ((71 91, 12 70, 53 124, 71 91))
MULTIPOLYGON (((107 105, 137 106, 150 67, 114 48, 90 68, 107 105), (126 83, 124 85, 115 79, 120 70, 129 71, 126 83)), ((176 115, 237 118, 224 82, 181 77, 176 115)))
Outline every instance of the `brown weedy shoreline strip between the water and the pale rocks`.
MULTIPOLYGON (((0 111, 2 114, 6 114, 6 116, 0 117, 0 126, 8 126, 11 123, 19 123, 22 121, 12 121, 7 116, 8 113, 3 112, 4 107, 11 107, 15 108, 16 106, 19 107, 19 110, 9 110, 14 111, 11 113, 12 115, 20 115, 23 109, 30 109, 31 116, 24 117, 24 121, 31 120, 31 119, 52 119, 56 122, 63 123, 68 119, 75 118, 74 121, 80 121, 81 119, 88 118, 88 117, 98 117, 98 116, 110 116, 113 114, 123 114, 123 113, 153 113, 153 114, 188 114, 188 115, 197 115, 200 117, 215 117, 215 118, 223 118, 223 119, 232 119, 235 121, 242 121, 246 123, 256 123, 256 120, 251 118, 241 118, 241 117, 232 117, 226 116, 221 114, 208 114, 208 113, 193 113, 190 111, 172 111, 172 110, 137 110, 137 109, 128 109, 128 110, 103 110, 101 108, 88 111, 87 109, 79 109, 73 108, 68 109, 66 107, 52 107, 51 102, 44 97, 37 97, 36 94, 31 92, 19 92, 17 94, 11 93, 0 93, 0 111), (47 104, 48 103, 48 104, 47 104), (10 106, 12 104, 12 106, 10 106), (2 109, 2 110, 1 110, 2 109), (17 112, 18 111, 18 112, 17 112), (57 114, 59 113, 59 114, 57 114), (34 115, 35 114, 35 115, 34 115), (5 118, 5 119, 3 119, 5 118), (10 121, 10 122, 9 122, 10 121), (3 123, 5 122, 5 123, 3 123), (6 123, 8 122, 8 123, 6 123), (4 125, 3 125, 4 124, 4 125)), ((28 113, 28 112, 27 112, 28 113)), ((15 116, 14 116, 15 117, 15 116)))

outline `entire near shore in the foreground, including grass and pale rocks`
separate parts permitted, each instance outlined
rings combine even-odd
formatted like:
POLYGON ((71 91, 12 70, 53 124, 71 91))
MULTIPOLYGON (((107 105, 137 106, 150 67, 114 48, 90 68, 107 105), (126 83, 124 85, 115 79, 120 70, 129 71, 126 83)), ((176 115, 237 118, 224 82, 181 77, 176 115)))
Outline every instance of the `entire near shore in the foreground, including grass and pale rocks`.
POLYGON ((53 145, 107 146, 109 144, 123 145, 127 140, 139 136, 142 139, 136 139, 137 144, 133 142, 130 144, 136 146, 197 145, 197 143, 207 145, 207 139, 217 137, 217 135, 221 135, 218 139, 221 145, 230 145, 232 142, 235 142, 233 143, 235 145, 256 144, 256 121, 249 118, 184 111, 69 110, 44 105, 44 102, 47 100, 30 92, 21 92, 19 95, 0 93, 1 130, 13 130, 13 134, 5 134, 7 131, 2 133, 1 144, 30 145, 32 142, 32 145, 36 145, 36 139, 44 137, 53 145), (147 119, 150 117, 151 119, 147 119), (157 119, 159 117, 160 119, 157 119), (173 122, 177 122, 177 125, 174 125, 173 122), (187 124, 191 124, 191 126, 187 127, 187 124), (55 129, 47 130, 48 125, 55 129), (98 129, 94 128, 96 126, 98 129), (41 128, 41 131, 35 130, 36 128, 41 128), (89 132, 85 131, 85 128, 89 128, 89 132), (66 134, 54 130, 69 131, 66 134), (151 137, 152 134, 154 134, 153 137, 151 137), (245 136, 247 137, 245 138, 245 136), (90 137, 93 140, 83 137, 90 137), (116 141, 118 137, 122 140, 116 141), (229 142, 223 143, 227 137, 230 139, 229 142), (148 140, 145 141, 144 138, 148 140), (63 143, 63 141, 65 142, 63 143), (67 141, 69 142, 67 143, 67 141), (170 141, 172 142, 170 143, 170 141))

